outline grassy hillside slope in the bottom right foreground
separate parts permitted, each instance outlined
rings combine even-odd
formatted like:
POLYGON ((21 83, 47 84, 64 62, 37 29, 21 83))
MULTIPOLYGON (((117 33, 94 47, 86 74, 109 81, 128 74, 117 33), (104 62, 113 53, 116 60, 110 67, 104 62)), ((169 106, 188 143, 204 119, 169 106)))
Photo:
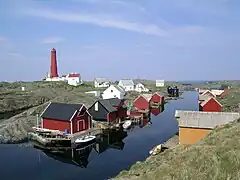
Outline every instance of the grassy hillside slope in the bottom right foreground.
POLYGON ((122 171, 116 180, 238 180, 240 119, 195 145, 179 145, 122 171))

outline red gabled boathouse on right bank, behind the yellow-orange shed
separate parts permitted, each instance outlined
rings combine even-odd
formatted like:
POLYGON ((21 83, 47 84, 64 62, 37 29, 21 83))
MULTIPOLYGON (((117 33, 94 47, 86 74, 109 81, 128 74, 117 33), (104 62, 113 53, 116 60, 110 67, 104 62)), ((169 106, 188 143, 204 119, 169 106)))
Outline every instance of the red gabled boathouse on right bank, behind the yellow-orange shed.
POLYGON ((222 111, 222 105, 215 98, 208 97, 208 99, 199 103, 199 111, 221 112, 222 111))

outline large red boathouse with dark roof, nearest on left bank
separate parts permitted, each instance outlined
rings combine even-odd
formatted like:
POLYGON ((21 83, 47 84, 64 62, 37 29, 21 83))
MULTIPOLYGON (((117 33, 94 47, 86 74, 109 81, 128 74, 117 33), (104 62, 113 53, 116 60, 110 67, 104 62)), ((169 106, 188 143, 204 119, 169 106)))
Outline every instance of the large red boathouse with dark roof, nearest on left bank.
POLYGON ((92 127, 92 116, 83 104, 49 103, 43 113, 42 128, 74 134, 92 127))

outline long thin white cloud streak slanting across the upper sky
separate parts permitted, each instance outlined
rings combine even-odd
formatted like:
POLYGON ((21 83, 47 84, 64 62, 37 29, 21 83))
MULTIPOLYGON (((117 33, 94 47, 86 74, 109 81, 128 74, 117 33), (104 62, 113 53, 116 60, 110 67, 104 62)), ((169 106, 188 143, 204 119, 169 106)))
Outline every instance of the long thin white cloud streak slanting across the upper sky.
POLYGON ((131 22, 124 19, 114 18, 113 16, 106 14, 72 13, 47 9, 29 10, 26 13, 29 15, 42 17, 49 20, 58 20, 75 23, 88 23, 102 27, 124 29, 127 31, 134 31, 156 36, 168 35, 168 33, 165 30, 161 29, 155 24, 141 24, 138 22, 131 22))

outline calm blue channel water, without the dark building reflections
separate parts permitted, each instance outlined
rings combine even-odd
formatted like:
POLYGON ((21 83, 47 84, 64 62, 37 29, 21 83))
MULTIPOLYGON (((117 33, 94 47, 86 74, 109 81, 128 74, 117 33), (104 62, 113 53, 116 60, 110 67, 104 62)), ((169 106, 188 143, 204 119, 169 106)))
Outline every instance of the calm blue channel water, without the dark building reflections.
POLYGON ((184 99, 170 101, 164 112, 152 116, 152 125, 135 128, 128 132, 123 140, 124 148, 109 148, 103 153, 94 150, 88 158, 87 168, 63 163, 50 158, 34 148, 0 146, 1 180, 105 180, 129 168, 136 161, 148 157, 149 150, 157 144, 168 140, 177 132, 174 118, 176 109, 197 110, 197 94, 185 92, 184 99))

